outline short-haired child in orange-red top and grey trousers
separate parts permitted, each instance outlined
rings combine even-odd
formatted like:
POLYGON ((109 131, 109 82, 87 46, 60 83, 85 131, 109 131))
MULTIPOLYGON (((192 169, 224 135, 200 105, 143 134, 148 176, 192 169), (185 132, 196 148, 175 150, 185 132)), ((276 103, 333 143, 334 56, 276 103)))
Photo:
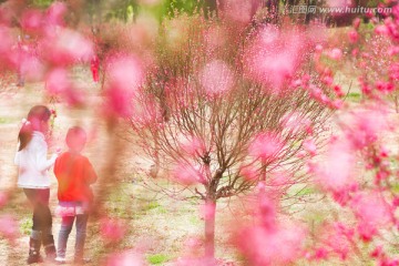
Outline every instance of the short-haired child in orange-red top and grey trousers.
POLYGON ((54 174, 59 182, 57 212, 62 216, 55 260, 65 263, 68 237, 74 221, 76 221, 74 260, 75 263, 85 263, 86 260, 83 259, 84 241, 89 211, 93 203, 90 184, 93 184, 98 176, 89 158, 81 154, 86 142, 83 129, 71 127, 65 141, 69 151, 62 153, 54 165, 54 174))

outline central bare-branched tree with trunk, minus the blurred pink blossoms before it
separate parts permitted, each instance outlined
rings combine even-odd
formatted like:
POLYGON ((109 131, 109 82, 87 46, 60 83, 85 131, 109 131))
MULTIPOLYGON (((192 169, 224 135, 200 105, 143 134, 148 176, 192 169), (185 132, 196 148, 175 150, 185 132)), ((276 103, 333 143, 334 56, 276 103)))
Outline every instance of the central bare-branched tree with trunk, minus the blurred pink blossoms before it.
MULTIPOLYGON (((205 218, 205 256, 212 259, 217 201, 246 193, 260 181, 278 191, 277 197, 287 196, 286 190, 306 176, 293 175, 276 184, 273 173, 301 171, 304 161, 298 153, 309 133, 305 126, 289 129, 287 117, 297 114, 298 124, 310 121, 317 139, 329 111, 308 91, 290 89, 289 82, 275 93, 272 85, 248 78, 243 54, 250 38, 239 30, 219 21, 193 19, 183 32, 182 40, 174 44, 167 43, 167 33, 160 38, 156 68, 137 94, 137 112, 130 123, 132 134, 156 167, 206 204, 211 215, 205 218), (227 35, 223 47, 209 47, 206 32, 211 28, 223 28, 227 35), (204 66, 214 60, 224 62, 231 72, 204 72, 204 66), (215 86, 228 83, 231 88, 214 94, 206 92, 204 75, 214 79, 215 86), (260 150, 268 142, 275 144, 269 156, 248 152, 259 136, 267 136, 260 140, 260 150), (183 168, 174 171, 182 164, 183 168), (185 171, 192 178, 178 180, 176 175, 185 171)), ((310 57, 304 57, 298 76, 308 74, 311 82, 319 84, 309 68, 310 57)))

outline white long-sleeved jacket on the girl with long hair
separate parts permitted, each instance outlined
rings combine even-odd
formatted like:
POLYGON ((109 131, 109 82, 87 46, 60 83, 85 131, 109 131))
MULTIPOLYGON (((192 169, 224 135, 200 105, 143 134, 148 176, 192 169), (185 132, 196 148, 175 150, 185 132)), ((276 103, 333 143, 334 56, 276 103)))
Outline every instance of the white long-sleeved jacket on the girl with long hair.
POLYGON ((19 166, 18 186, 23 188, 48 188, 48 170, 54 164, 57 155, 47 160, 48 145, 43 133, 33 131, 29 144, 17 152, 14 163, 19 166))

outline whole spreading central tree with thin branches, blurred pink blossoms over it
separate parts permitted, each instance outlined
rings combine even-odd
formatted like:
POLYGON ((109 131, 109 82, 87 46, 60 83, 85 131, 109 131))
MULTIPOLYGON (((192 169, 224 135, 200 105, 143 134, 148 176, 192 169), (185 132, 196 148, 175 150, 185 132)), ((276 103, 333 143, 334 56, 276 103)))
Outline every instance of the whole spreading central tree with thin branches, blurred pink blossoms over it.
POLYGON ((165 22, 156 65, 135 92, 130 119, 155 162, 150 174, 203 201, 207 259, 217 201, 259 182, 276 200, 287 197, 306 181, 303 157, 314 154, 340 103, 311 62, 323 40, 293 25, 250 32, 245 25, 198 17, 165 22))

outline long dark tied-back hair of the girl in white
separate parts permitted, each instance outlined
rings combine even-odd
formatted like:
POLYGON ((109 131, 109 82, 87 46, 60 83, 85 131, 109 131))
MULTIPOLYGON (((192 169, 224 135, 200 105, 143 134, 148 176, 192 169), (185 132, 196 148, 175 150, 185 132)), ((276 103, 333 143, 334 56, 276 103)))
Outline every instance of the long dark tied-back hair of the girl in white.
POLYGON ((32 140, 32 133, 38 129, 38 122, 47 122, 51 116, 51 111, 44 105, 35 105, 28 113, 28 120, 22 124, 18 134, 19 149, 22 151, 32 140))

